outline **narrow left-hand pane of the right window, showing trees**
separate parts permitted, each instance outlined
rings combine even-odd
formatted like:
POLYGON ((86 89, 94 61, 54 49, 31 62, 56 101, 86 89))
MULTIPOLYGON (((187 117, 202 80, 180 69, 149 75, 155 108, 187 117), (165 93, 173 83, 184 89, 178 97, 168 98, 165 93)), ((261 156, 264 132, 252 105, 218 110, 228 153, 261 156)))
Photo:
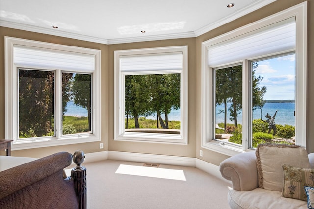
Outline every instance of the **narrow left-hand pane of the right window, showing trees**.
POLYGON ((242 145, 242 65, 214 72, 215 139, 242 145))

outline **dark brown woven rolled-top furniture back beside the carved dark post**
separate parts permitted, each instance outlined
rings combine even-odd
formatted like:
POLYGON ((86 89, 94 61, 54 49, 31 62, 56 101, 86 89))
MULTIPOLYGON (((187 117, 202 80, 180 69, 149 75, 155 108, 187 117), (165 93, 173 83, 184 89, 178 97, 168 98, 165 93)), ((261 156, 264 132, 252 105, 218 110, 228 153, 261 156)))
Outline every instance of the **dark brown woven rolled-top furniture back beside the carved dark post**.
POLYGON ((0 209, 78 209, 76 182, 64 178, 71 163, 59 152, 0 172, 0 209))

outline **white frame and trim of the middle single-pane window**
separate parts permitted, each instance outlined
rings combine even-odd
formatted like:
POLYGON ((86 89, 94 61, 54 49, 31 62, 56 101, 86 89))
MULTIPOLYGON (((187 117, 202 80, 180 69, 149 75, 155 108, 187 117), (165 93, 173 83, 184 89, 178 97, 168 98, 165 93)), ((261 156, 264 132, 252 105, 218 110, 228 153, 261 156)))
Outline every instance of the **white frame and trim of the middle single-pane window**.
MULTIPOLYGON (((147 74, 150 72, 148 71, 147 74)), ((151 72, 152 73, 152 72, 151 72)), ((134 74, 134 73, 132 73, 134 74)), ((143 74, 143 73, 140 73, 143 74)), ((114 140, 116 141, 134 141, 150 143, 170 143, 183 144, 188 143, 187 139, 187 46, 171 46, 158 48, 145 48, 134 50, 114 51, 114 140), (129 55, 148 55, 157 53, 182 52, 183 69, 180 71, 158 71, 160 73, 181 73, 181 134, 153 134, 153 133, 134 133, 124 131, 124 81, 123 76, 128 73, 120 71, 119 59, 121 56, 129 55), (123 121, 121 123, 121 121, 123 121)))

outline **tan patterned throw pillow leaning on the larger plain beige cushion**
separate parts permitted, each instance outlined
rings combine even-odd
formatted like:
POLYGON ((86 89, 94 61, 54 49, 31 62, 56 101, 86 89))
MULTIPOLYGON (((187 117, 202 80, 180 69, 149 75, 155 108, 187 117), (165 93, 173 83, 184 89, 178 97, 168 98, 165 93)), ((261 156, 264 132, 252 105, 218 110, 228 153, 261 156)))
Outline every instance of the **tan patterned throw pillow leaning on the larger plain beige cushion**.
POLYGON ((308 197, 304 186, 314 187, 314 169, 283 165, 283 170, 283 197, 307 201, 308 197))

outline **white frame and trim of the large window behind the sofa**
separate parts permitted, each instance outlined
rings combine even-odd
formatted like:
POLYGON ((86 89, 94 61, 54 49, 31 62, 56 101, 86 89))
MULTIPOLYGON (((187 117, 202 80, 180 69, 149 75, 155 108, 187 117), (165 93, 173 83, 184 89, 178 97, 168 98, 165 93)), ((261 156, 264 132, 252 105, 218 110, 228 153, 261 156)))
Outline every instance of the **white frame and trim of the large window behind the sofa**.
MULTIPOLYGON (((211 79, 211 70, 208 67, 208 47, 230 40, 241 34, 245 34, 256 29, 262 28, 264 26, 270 25, 272 23, 277 23, 279 21, 288 19, 295 16, 296 18, 296 49, 295 49, 295 62, 296 62, 296 86, 295 86, 295 99, 296 99, 296 139, 298 139, 300 144, 304 147, 306 146, 306 88, 307 88, 307 2, 300 3, 293 7, 290 7, 284 11, 266 17, 260 21, 245 25, 223 35, 212 38, 208 41, 202 43, 202 93, 201 93, 201 138, 202 144, 201 147, 216 151, 228 156, 233 156, 235 154, 252 151, 248 149, 247 138, 243 136, 243 144, 241 148, 236 146, 231 146, 228 144, 223 144, 218 141, 211 140, 208 132, 208 127, 210 123, 210 118, 213 118, 212 115, 212 105, 211 105, 211 95, 212 85, 209 85, 209 80, 211 79)), ((253 58, 252 58, 253 59, 253 58)), ((243 62, 243 65, 248 65, 248 62, 245 60, 240 60, 243 62)), ((226 63, 227 65, 228 63, 226 63)), ((243 79, 247 79, 243 77, 243 79)), ((247 89, 248 84, 243 82, 243 87, 247 89)), ((243 103, 246 105, 246 103, 243 103)), ((247 114, 243 106, 243 118, 247 114)), ((248 134, 248 124, 243 124, 243 127, 247 127, 247 131, 243 131, 243 134, 248 134)))

